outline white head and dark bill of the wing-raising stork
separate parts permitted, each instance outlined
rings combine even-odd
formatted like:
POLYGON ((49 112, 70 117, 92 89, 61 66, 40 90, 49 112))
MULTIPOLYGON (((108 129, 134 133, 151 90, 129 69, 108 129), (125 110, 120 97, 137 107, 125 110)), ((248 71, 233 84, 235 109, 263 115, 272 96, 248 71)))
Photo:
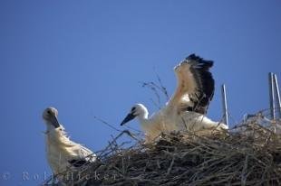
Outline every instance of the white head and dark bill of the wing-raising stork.
POLYGON ((134 119, 136 116, 138 116, 141 119, 147 118, 149 115, 148 109, 144 107, 142 104, 136 104, 133 107, 131 107, 130 113, 123 119, 121 122, 121 126, 128 123, 132 119, 134 119))

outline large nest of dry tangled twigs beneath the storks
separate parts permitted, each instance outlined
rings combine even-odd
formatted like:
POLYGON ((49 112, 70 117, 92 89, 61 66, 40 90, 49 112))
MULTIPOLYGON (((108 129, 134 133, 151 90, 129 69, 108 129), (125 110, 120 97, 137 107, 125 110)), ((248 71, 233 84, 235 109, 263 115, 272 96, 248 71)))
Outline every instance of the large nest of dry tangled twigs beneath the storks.
MULTIPOLYGON (((114 139, 99 153, 99 161, 71 172, 72 179, 65 182, 114 186, 281 185, 280 139, 276 131, 261 126, 257 119, 210 135, 162 134, 154 144, 136 142, 126 148, 114 139)), ((65 178, 69 173, 64 172, 65 178)))

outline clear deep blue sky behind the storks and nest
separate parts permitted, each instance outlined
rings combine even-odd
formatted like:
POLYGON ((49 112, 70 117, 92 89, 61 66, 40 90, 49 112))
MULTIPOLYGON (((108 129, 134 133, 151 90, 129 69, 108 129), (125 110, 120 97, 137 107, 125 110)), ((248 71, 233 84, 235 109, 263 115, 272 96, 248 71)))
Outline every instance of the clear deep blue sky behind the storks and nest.
POLYGON ((215 61, 209 117, 221 118, 222 83, 232 124, 267 108, 267 73, 281 78, 280 19, 277 0, 2 0, 0 185, 36 185, 51 173, 45 107, 58 108, 73 140, 101 150, 117 133, 94 116, 120 127, 134 103, 156 111, 140 81, 156 81, 156 71, 172 94, 172 69, 193 52, 215 61), (23 181, 23 172, 40 178, 23 181))

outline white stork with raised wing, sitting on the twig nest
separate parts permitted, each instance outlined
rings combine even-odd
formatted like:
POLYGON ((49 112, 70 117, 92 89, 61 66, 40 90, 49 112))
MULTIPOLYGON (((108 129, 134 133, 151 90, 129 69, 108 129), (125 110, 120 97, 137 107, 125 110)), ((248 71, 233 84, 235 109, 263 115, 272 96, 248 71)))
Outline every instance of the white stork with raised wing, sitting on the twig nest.
POLYGON ((148 109, 142 104, 136 104, 121 122, 121 126, 137 117, 147 142, 154 140, 161 132, 228 129, 225 124, 214 122, 205 116, 215 89, 214 79, 209 72, 212 66, 212 60, 203 60, 195 54, 189 55, 174 68, 178 88, 166 107, 149 118, 148 109))

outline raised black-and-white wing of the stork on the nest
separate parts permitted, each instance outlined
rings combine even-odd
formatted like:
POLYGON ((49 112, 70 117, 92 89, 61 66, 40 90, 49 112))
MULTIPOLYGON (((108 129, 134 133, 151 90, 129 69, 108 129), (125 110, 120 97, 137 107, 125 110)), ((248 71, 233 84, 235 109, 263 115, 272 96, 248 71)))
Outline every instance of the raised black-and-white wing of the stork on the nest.
POLYGON ((208 103, 213 98, 215 81, 209 69, 212 60, 203 60, 195 54, 189 55, 175 67, 178 88, 168 103, 178 111, 194 111, 206 114, 208 103))

